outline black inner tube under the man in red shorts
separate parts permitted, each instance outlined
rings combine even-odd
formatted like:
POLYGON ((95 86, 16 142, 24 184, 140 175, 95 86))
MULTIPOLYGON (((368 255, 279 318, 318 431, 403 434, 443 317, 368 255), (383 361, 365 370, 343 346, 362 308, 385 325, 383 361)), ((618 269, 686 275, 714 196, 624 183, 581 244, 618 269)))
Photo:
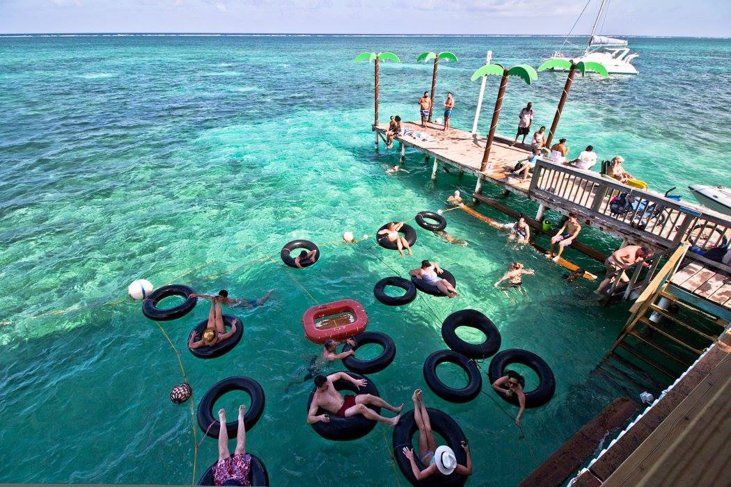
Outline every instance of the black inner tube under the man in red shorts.
MULTIPOLYGON (((376 388, 376 386, 374 386, 374 383, 370 379, 368 379, 368 377, 363 377, 363 375, 356 374, 355 372, 345 373, 355 379, 366 379, 368 380, 368 383, 366 384, 366 387, 362 387, 359 389, 355 386, 355 384, 349 382, 348 380, 340 379, 336 380, 334 383, 336 391, 352 391, 355 392, 355 394, 373 394, 374 396, 379 395, 378 389, 376 388)), ((310 410, 310 405, 312 404, 312 398, 314 397, 314 394, 315 388, 312 388, 310 398, 307 401, 308 411, 310 410)), ((376 413, 381 413, 380 407, 375 407, 372 405, 369 405, 368 407, 374 410, 376 413)), ((323 410, 322 408, 319 408, 317 410, 317 414, 327 414, 330 416, 330 421, 327 423, 317 421, 317 423, 312 423, 311 425, 312 429, 314 429, 315 432, 317 432, 317 434, 319 434, 321 437, 325 438, 325 440, 357 440, 358 438, 364 437, 366 436, 366 434, 370 433, 371 430, 376 427, 377 422, 372 421, 360 414, 349 416, 348 418, 338 418, 338 416, 327 413, 327 411, 323 410)))

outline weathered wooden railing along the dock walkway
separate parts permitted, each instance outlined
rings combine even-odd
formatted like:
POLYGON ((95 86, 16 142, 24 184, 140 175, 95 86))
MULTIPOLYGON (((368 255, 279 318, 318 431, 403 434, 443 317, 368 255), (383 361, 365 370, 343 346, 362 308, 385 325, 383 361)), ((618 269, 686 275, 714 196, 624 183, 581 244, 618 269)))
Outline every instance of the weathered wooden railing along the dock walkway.
MULTIPOLYGON (((596 172, 538 159, 529 193, 539 199, 561 202, 561 206, 586 218, 611 223, 628 237, 676 248, 681 242, 708 249, 727 245, 731 239, 731 217, 693 204, 682 204, 654 191, 632 188, 596 172)), ((725 271, 731 267, 697 258, 725 271)))

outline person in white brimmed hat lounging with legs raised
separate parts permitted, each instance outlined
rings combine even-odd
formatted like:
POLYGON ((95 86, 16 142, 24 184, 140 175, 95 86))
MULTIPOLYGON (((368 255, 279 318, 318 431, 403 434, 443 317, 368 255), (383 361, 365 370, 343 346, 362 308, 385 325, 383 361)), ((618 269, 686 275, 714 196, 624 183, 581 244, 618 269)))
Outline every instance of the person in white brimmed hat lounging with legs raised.
POLYGON ((409 459, 412 466, 412 473, 416 480, 423 480, 430 475, 451 475, 455 472, 457 475, 472 475, 472 456, 469 451, 469 445, 466 441, 462 442, 462 448, 467 455, 467 465, 457 463, 457 457, 454 450, 447 445, 436 446, 436 439, 431 431, 431 423, 429 422, 429 413, 424 405, 424 399, 421 389, 414 391, 412 395, 414 402, 414 421, 416 421, 419 429, 419 454, 423 464, 428 464, 423 470, 420 470, 414 461, 414 449, 404 447, 401 450, 409 459))

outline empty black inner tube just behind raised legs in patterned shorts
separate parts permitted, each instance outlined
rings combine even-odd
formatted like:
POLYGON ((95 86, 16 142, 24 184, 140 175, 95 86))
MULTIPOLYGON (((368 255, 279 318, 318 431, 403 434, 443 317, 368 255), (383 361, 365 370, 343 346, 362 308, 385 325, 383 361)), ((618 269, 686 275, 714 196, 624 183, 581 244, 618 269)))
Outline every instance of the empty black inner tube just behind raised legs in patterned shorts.
MULTIPOLYGON (((261 418, 262 413, 264 413, 264 389, 262 389, 262 386, 256 380, 251 377, 244 377, 243 375, 236 375, 220 380, 208 389, 198 403, 198 426, 211 438, 219 437, 219 428, 221 426, 219 420, 213 417, 213 405, 216 404, 219 397, 230 391, 244 391, 251 397, 251 404, 246 409, 246 415, 243 416, 243 424, 246 426, 247 432, 254 427, 257 421, 259 421, 259 418, 261 418), (213 426, 211 426, 211 423, 213 423, 213 426)), ((235 438, 238 429, 238 420, 227 421, 226 429, 229 438, 235 438)))

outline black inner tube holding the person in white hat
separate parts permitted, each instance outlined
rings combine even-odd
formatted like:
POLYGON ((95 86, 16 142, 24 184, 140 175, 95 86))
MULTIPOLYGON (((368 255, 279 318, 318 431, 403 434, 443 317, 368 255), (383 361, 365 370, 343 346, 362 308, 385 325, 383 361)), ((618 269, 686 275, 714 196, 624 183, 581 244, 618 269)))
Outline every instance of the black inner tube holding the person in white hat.
MULTIPOLYGON (((447 446, 452 448, 457 458, 457 463, 461 465, 467 464, 467 454, 462 448, 462 442, 467 438, 464 436, 462 429, 459 427, 457 422, 453 420, 450 415, 443 411, 432 409, 431 407, 426 408, 429 413, 429 422, 431 423, 431 429, 439 433, 439 435, 447 441, 447 446)), ((393 456, 396 459, 398 468, 401 469, 401 473, 404 474, 406 480, 412 486, 423 486, 423 487, 458 487, 463 486, 467 480, 465 475, 457 475, 454 472, 452 474, 444 476, 441 474, 430 475, 424 480, 416 480, 414 472, 412 472, 411 462, 404 455, 404 447, 414 449, 414 461, 420 470, 425 469, 427 466, 422 463, 421 455, 424 453, 418 451, 418 448, 414 448, 413 438, 414 433, 417 432, 418 426, 414 420, 414 410, 410 410, 408 413, 401 415, 401 420, 398 424, 393 427, 393 456)))

